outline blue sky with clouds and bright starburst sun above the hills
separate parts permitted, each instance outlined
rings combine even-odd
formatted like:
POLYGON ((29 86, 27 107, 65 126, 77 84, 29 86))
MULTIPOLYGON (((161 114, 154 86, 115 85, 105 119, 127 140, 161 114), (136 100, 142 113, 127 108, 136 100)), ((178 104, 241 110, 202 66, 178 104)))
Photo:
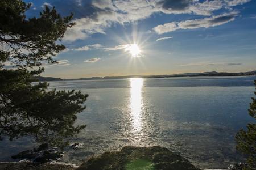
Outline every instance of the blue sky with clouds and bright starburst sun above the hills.
POLYGON ((30 0, 74 13, 59 64, 43 76, 163 75, 256 70, 256 1, 30 0))

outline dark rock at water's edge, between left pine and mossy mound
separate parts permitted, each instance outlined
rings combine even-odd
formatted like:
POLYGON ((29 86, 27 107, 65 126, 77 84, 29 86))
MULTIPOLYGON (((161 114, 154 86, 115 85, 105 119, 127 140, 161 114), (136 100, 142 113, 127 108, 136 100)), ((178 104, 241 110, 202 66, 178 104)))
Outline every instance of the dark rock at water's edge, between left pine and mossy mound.
POLYGON ((62 156, 63 156, 63 152, 47 150, 47 151, 44 151, 42 156, 38 156, 38 158, 34 160, 34 163, 51 162, 53 160, 61 158, 62 156))

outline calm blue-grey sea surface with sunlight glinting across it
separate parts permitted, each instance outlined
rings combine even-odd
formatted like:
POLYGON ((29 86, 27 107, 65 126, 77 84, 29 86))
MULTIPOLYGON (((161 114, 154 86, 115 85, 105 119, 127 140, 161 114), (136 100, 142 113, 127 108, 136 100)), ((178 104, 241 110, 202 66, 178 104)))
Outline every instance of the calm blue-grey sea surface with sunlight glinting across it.
MULTIPOLYGON (((254 120, 247 114, 255 76, 133 78, 49 82, 57 90, 89 94, 77 124, 87 127, 73 142, 84 148, 61 162, 80 164, 91 155, 123 146, 164 146, 200 168, 226 168, 243 158, 234 135, 254 120)), ((0 161, 35 145, 31 138, 0 142, 0 161)), ((12 160, 13 161, 13 160, 12 160)))

